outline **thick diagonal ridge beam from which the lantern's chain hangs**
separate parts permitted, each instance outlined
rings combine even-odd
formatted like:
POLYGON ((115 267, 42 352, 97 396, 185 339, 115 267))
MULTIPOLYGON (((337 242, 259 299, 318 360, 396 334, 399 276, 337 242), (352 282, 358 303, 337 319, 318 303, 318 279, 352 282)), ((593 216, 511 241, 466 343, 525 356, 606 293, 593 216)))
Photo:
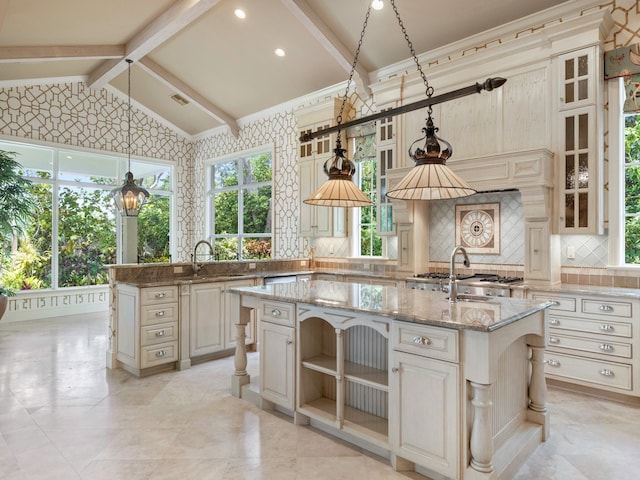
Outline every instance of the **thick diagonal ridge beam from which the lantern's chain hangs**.
MULTIPOLYGON (((156 17, 125 46, 125 56, 138 61, 154 48, 164 43, 177 32, 196 20, 220 0, 178 0, 163 14, 156 17)), ((89 74, 87 85, 101 88, 127 69, 127 63, 107 60, 89 74)))

